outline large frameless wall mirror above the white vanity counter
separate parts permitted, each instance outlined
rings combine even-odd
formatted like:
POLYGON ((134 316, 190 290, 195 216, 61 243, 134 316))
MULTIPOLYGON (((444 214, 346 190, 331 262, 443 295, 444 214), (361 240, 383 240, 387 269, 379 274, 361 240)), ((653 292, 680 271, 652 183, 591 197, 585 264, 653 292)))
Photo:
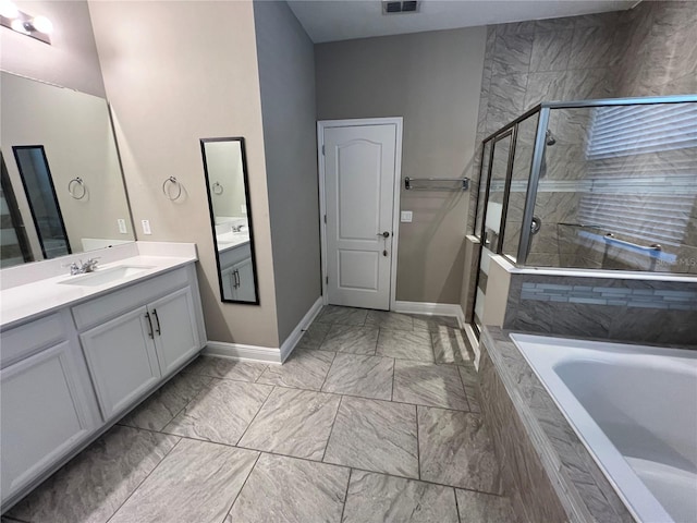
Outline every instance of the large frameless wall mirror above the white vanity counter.
POLYGON ((0 72, 1 267, 135 240, 107 100, 0 72))

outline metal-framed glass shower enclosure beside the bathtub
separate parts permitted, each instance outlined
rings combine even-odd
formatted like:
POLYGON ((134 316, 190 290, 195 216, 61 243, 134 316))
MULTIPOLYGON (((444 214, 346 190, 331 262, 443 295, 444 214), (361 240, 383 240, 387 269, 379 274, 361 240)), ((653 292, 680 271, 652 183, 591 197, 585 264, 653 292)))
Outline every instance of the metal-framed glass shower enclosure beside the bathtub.
POLYGON ((479 181, 478 328, 496 254, 697 275, 697 95, 540 104, 484 141, 479 181))

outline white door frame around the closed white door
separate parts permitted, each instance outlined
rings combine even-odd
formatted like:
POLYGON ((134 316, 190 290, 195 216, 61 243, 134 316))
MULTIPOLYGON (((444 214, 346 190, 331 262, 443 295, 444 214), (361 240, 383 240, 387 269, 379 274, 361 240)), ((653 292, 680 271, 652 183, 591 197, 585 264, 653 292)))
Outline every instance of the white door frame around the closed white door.
POLYGON ((321 283, 322 283, 322 304, 329 304, 329 292, 327 289, 327 223, 325 216, 327 215, 327 195, 325 193, 325 130, 332 127, 356 127, 362 125, 394 125, 396 142, 394 147, 394 182, 392 194, 392 259, 390 263, 390 311, 394 311, 396 301, 396 258, 399 255, 400 240, 400 191, 402 187, 402 117, 390 118, 360 118, 348 120, 320 120, 317 122, 317 166, 319 181, 319 230, 321 246, 321 283))

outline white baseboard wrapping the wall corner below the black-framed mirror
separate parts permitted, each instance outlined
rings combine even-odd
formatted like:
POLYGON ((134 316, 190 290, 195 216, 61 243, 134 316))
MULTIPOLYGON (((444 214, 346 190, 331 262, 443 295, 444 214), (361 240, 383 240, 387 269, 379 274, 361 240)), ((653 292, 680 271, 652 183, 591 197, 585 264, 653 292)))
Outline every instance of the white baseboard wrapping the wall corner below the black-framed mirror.
POLYGON ((322 308, 321 296, 313 304, 310 309, 303 316, 299 324, 293 329, 280 349, 272 346, 245 345, 244 343, 225 343, 222 341, 209 341, 203 353, 209 356, 229 357, 245 362, 264 362, 281 364, 290 356, 293 349, 303 336, 303 330, 307 329, 315 317, 322 308))

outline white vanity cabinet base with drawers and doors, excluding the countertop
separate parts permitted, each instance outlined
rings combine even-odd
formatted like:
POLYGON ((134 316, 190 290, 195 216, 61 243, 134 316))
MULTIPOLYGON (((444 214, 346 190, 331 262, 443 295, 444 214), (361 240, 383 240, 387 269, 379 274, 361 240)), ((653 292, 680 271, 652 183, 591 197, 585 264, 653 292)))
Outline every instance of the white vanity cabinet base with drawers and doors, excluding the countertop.
POLYGON ((2 331, 2 510, 194 358, 206 343, 193 263, 2 331))

